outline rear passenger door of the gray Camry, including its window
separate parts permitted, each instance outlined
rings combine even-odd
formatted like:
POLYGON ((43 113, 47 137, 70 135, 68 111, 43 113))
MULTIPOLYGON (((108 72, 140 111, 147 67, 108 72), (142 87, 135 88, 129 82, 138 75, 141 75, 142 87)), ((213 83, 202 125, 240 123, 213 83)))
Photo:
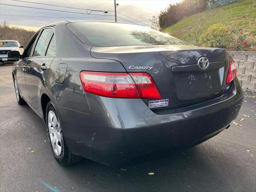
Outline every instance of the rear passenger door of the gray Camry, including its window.
POLYGON ((28 103, 36 112, 40 108, 40 91, 56 55, 56 44, 53 28, 44 28, 37 40, 32 57, 26 62, 25 80, 29 95, 28 103))

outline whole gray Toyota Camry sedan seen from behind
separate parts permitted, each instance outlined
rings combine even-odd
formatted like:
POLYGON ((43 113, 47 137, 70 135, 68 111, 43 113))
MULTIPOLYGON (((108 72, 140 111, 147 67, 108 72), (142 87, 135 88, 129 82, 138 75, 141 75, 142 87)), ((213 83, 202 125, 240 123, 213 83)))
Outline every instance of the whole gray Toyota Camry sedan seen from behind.
POLYGON ((8 57, 18 104, 42 118, 62 165, 194 146, 228 128, 243 99, 225 49, 138 25, 57 22, 8 57))

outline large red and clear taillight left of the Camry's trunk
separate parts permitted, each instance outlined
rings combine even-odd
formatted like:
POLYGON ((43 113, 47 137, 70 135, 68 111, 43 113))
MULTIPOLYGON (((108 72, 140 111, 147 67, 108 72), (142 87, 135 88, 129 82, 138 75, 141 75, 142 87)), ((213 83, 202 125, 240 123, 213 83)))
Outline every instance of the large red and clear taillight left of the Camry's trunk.
POLYGON ((114 98, 160 99, 161 95, 152 77, 147 73, 80 73, 85 92, 114 98))

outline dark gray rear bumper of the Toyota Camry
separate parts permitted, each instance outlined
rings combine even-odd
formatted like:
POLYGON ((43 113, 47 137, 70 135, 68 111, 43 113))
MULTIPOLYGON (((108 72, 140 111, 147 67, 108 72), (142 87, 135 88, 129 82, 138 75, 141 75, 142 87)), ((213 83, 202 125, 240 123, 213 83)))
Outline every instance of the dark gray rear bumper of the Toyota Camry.
POLYGON ((178 146, 193 146, 226 128, 240 110, 243 92, 237 78, 219 98, 194 106, 151 111, 140 99, 86 94, 91 112, 55 106, 69 149, 116 166, 178 146))

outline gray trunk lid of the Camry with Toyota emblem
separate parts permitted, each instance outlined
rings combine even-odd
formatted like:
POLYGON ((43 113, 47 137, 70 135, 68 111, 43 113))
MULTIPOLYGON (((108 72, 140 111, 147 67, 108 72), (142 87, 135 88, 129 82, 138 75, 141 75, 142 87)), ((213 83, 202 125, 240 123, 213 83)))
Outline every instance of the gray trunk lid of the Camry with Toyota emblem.
MULTIPOLYGON (((225 77, 230 58, 220 48, 187 45, 92 47, 94 58, 113 59, 127 72, 146 72, 154 79, 164 105, 154 109, 177 108, 216 98, 228 89, 225 77), (206 57, 203 70, 198 60, 206 57), (168 100, 168 104, 166 102, 168 100)), ((149 104, 150 99, 143 99, 149 104)))

